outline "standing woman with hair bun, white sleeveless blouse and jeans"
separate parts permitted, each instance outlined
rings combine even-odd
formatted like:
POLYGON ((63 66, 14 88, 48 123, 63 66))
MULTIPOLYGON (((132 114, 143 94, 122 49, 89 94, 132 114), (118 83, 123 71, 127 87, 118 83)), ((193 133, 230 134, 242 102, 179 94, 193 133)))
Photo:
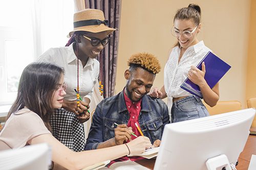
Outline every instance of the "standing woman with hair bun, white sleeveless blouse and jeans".
POLYGON ((201 27, 201 9, 198 5, 189 4, 188 7, 177 11, 172 34, 178 42, 164 68, 164 85, 161 89, 153 88, 148 94, 155 98, 168 98, 172 122, 209 115, 200 98, 180 88, 187 77, 200 87, 206 104, 213 107, 219 100, 219 83, 211 89, 204 79, 207 71, 205 64, 202 63, 202 70, 196 67, 211 51, 197 38, 201 27))

